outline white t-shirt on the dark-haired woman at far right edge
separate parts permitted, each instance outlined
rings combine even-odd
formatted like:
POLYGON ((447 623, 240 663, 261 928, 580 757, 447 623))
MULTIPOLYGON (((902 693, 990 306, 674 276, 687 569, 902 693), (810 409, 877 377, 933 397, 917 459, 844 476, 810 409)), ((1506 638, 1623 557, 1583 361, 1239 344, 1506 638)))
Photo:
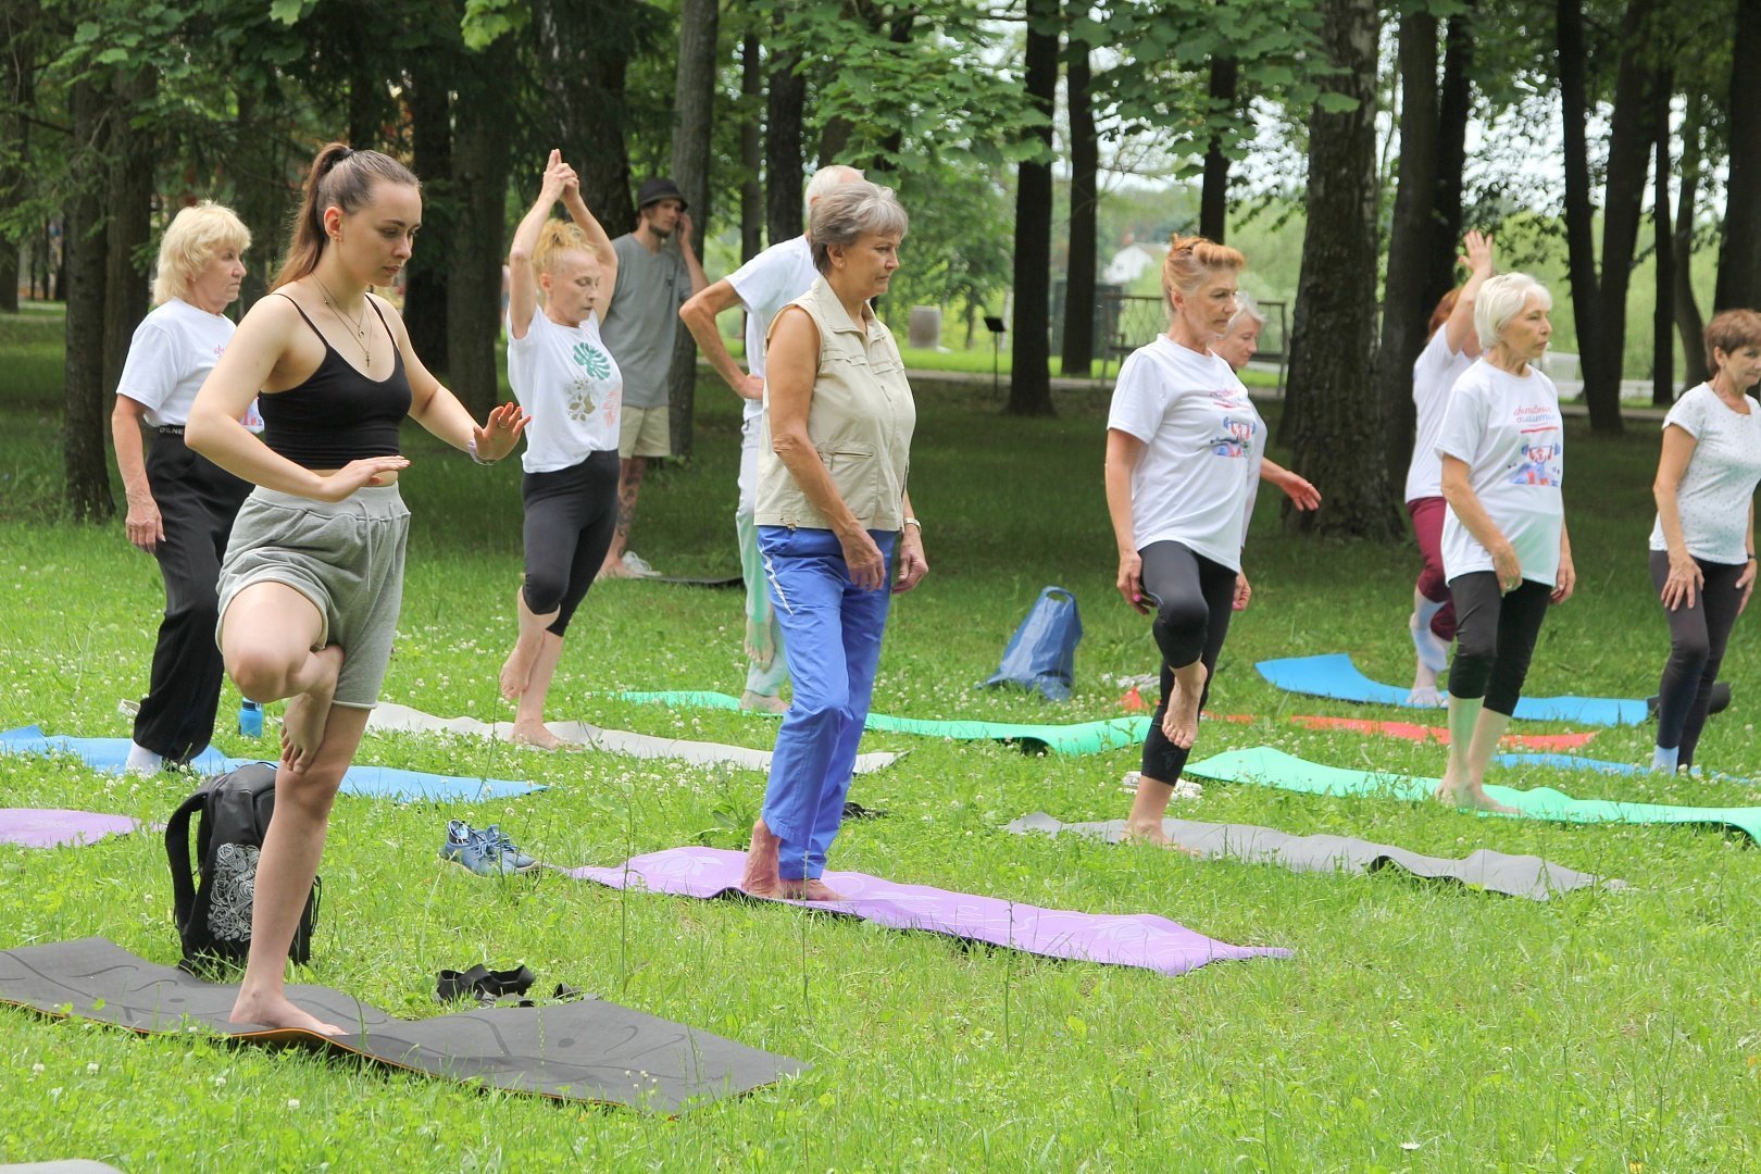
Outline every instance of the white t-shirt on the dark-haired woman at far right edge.
MULTIPOLYGON (((1719 400, 1712 384, 1682 394, 1662 419, 1696 440, 1675 500, 1687 553, 1708 563, 1749 560, 1749 507, 1761 482, 1761 407, 1743 396, 1749 414, 1719 400)), ((1662 517, 1652 525, 1652 549, 1666 551, 1662 517)))

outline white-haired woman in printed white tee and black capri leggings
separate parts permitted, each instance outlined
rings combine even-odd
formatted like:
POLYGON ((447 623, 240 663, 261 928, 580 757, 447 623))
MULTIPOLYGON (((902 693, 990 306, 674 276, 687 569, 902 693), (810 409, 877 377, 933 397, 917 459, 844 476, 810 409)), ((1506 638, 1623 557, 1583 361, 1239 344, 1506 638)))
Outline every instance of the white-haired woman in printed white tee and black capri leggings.
POLYGON ((1560 482, 1566 424, 1546 352, 1553 297, 1506 273, 1479 287, 1481 356, 1449 393, 1442 459, 1442 563, 1455 600, 1449 665, 1449 767, 1437 799, 1511 813, 1485 790, 1486 766, 1511 722, 1548 604, 1571 597, 1576 572, 1560 482))

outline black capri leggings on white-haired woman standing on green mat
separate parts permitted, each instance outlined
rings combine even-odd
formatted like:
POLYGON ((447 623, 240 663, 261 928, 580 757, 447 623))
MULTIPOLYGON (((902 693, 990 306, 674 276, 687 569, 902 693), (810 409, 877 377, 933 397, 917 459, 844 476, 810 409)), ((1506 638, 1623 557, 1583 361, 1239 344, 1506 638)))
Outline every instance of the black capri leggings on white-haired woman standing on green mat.
POLYGON ((1456 625, 1449 695, 1463 701, 1485 697, 1486 709, 1511 716, 1551 595, 1553 588, 1532 579, 1500 595, 1499 576, 1490 570, 1449 579, 1456 625))

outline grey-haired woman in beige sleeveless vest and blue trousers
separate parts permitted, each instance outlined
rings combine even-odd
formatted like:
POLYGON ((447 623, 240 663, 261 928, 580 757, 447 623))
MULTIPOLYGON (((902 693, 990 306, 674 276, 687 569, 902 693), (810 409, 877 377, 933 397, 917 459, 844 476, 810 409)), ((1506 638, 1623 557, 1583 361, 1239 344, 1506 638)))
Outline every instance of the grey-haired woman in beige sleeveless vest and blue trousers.
POLYGON ((917 408, 898 343, 868 305, 898 269, 905 225, 889 188, 856 181, 821 197, 808 229, 819 280, 771 322, 755 521, 794 704, 741 880, 757 896, 840 899, 821 875, 889 595, 930 570, 905 491, 917 408))

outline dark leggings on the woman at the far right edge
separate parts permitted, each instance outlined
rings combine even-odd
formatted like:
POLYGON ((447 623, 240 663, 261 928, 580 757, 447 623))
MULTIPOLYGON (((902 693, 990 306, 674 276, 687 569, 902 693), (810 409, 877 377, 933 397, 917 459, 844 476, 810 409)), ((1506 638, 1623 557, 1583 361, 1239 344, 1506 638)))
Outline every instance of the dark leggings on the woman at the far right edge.
MULTIPOLYGON (((1694 593, 1694 605, 1664 609, 1669 620, 1669 660, 1662 667, 1662 685, 1657 686, 1657 745, 1664 750, 1680 748, 1678 766, 1694 764, 1694 746, 1699 730, 1706 727, 1712 706, 1712 683, 1719 679, 1724 662, 1724 644, 1736 625, 1736 605, 1743 593, 1736 590, 1747 563, 1708 563, 1694 560, 1705 583, 1694 593)), ((1669 554, 1652 551, 1652 584, 1662 595, 1669 577, 1669 554)))

